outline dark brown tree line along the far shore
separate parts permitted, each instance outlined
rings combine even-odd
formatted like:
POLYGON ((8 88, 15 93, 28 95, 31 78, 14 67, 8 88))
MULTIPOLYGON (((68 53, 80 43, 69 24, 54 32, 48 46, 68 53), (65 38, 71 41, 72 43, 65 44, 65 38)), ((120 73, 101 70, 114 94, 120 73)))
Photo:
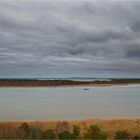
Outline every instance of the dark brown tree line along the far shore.
POLYGON ((140 79, 110 79, 95 81, 74 80, 32 80, 32 79, 0 79, 2 86, 63 86, 63 85, 88 85, 88 84, 130 84, 140 83, 140 79))

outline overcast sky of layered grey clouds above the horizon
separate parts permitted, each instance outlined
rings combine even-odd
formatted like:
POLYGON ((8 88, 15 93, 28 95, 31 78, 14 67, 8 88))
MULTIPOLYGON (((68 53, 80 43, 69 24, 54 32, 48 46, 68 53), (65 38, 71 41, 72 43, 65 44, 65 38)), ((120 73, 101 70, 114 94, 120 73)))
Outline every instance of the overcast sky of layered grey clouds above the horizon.
POLYGON ((0 77, 140 71, 140 1, 0 1, 0 77))

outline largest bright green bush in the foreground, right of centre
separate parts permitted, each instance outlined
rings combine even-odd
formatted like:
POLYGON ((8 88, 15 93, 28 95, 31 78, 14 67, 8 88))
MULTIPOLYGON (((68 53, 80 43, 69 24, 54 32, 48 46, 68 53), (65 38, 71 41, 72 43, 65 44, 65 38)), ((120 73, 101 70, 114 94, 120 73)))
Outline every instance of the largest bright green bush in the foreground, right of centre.
POLYGON ((97 125, 91 125, 84 136, 85 139, 107 139, 107 135, 97 125))

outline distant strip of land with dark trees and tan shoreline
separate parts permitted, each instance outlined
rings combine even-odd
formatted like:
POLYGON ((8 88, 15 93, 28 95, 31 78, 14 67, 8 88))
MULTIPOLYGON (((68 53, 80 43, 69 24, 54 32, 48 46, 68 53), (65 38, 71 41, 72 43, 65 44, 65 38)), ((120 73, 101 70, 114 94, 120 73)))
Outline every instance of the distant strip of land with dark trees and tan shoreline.
POLYGON ((111 86, 140 84, 140 79, 111 78, 109 80, 65 80, 65 79, 0 79, 0 87, 61 87, 61 86, 111 86))

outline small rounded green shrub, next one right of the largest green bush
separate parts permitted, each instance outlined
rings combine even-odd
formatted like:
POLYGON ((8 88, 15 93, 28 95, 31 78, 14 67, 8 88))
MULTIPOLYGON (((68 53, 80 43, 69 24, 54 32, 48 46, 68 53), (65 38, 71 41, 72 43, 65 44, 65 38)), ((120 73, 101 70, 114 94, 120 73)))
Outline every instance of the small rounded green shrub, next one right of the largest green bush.
POLYGON ((120 130, 118 132, 116 132, 116 136, 115 139, 130 139, 130 135, 127 132, 127 130, 120 130))

